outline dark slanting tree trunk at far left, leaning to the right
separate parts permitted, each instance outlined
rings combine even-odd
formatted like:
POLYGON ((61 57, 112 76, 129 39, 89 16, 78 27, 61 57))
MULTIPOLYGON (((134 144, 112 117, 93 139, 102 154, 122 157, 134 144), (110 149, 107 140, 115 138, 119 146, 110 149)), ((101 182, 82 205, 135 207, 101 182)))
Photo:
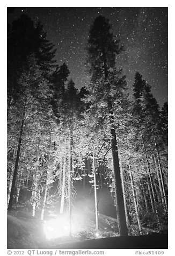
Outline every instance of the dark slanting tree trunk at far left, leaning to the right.
POLYGON ((17 174, 18 174, 18 163, 19 163, 19 157, 20 157, 21 140, 22 140, 22 137, 23 137, 26 103, 27 103, 27 98, 25 99, 23 117, 22 117, 21 126, 20 126, 20 133, 19 133, 19 140, 18 140, 18 150, 17 150, 16 162, 15 162, 14 172, 13 172, 13 180, 12 180, 12 187, 11 187, 8 211, 10 211, 12 209, 13 196, 14 196, 14 187, 15 187, 16 178, 17 178, 17 174))

